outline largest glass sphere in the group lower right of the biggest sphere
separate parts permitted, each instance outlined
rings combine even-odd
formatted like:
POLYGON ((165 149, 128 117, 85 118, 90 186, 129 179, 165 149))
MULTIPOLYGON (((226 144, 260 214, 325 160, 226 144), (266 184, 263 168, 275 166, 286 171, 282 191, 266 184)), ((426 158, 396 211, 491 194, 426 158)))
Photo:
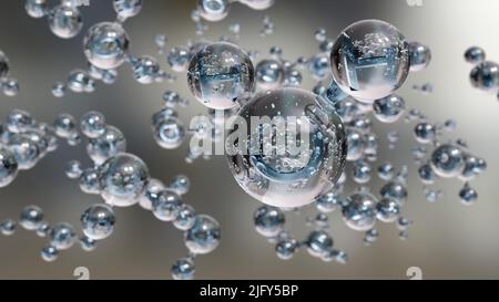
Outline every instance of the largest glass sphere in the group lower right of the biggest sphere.
POLYGON ((356 231, 368 231, 376 225, 378 200, 368 192, 356 192, 347 198, 343 208, 346 225, 356 231))

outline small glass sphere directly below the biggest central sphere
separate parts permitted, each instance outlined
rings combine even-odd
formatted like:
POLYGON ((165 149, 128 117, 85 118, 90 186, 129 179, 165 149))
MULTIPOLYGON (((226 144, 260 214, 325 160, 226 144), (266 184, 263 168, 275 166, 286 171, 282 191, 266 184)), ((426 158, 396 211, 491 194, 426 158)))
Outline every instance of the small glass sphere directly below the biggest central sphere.
POLYGON ((284 223, 286 222, 286 217, 281 209, 267 206, 258 208, 253 219, 256 231, 268 238, 279 235, 284 230, 284 223))

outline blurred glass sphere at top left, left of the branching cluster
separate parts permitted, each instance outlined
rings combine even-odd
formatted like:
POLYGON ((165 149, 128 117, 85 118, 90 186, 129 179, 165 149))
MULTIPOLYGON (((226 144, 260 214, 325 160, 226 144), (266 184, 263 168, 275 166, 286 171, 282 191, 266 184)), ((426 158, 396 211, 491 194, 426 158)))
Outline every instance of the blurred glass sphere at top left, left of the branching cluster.
POLYGON ((59 6, 49 14, 49 25, 57 37, 71 39, 80 33, 83 19, 77 8, 59 6))

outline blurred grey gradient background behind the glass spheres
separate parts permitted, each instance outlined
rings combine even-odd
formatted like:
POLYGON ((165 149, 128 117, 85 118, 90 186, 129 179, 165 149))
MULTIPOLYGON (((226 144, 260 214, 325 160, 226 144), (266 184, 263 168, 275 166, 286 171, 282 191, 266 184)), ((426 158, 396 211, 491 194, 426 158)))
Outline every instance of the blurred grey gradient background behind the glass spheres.
MULTIPOLYGON (((93 94, 52 97, 50 88, 55 81, 64 79, 72 69, 85 66, 81 45, 86 29, 114 19, 110 0, 93 0, 90 8, 83 8, 85 28, 68 41, 55 38, 47 20, 28 17, 23 2, 7 0, 0 6, 0 49, 10 59, 11 75, 21 84, 17 97, 0 96, 0 118, 12 108, 22 108, 38 121, 52 123, 59 113, 80 117, 89 110, 98 110, 106 115, 109 124, 124 132, 129 152, 142 157, 154 177, 167 183, 177 174, 187 175, 193 185, 185 201, 197 212, 214 216, 223 228, 220 248, 196 259, 198 279, 406 279, 409 267, 420 267, 428 279, 499 278, 499 104, 493 95, 471 88, 471 66, 462 59, 468 46, 478 44, 491 60, 499 61, 498 1, 424 0, 422 8, 411 8, 405 0, 277 0, 265 12, 235 4, 226 20, 211 25, 208 37, 215 39, 227 33, 231 23, 240 22, 243 46, 258 49, 265 55, 269 46, 279 45, 289 60, 316 52, 313 34, 317 28, 324 27, 335 38, 349 23, 371 18, 391 22, 409 40, 430 45, 430 67, 411 74, 399 94, 408 106, 422 110, 432 121, 455 118, 459 136, 452 137, 464 137, 476 154, 488 160, 489 170, 472 183, 479 201, 470 208, 460 205, 457 194, 461 184, 441 180, 436 187, 446 192, 445 198, 438 204, 427 202, 411 165, 410 199, 405 215, 416 225, 408 241, 398 239, 395 226, 379 225, 379 241, 365 247, 363 233, 347 229, 338 212, 332 215, 335 244, 349 253, 347 265, 325 264, 304 250, 292 261, 278 260, 274 247, 253 229, 252 216, 258 202, 238 188, 224 157, 186 165, 186 144, 167 152, 154 143, 150 119, 162 106, 162 93, 175 90, 192 100, 183 75, 174 84, 143 86, 123 66, 112 86, 100 84, 93 94), (262 39, 258 32, 265 14, 275 22, 276 32, 262 39), (411 91, 413 84, 426 82, 435 85, 434 94, 424 96, 411 91)), ((194 0, 145 0, 142 13, 125 25, 132 52, 156 55, 153 40, 157 33, 167 35, 169 49, 195 38, 190 20, 194 6, 194 0)), ((165 66, 164 59, 161 62, 165 66)), ((309 80, 304 83, 307 88, 312 85, 309 80)), ((187 122, 202 112, 203 107, 193 102, 181 110, 181 116, 187 122)), ((416 146, 411 127, 401 122, 391 126, 376 123, 376 132, 381 137, 380 160, 411 163, 410 149, 416 146), (396 150, 386 148, 387 129, 400 131, 396 150)), ((81 192, 75 181, 67 179, 63 168, 70 159, 90 164, 83 145, 70 148, 61 142, 57 153, 1 189, 0 220, 17 219, 24 206, 35 204, 44 209, 50 222, 69 221, 80 227, 81 212, 102 200, 81 192)), ((380 185, 376 177, 371 184, 375 192, 380 185)), ((92 279, 170 279, 171 264, 187 253, 182 233, 140 207, 116 209, 116 216, 113 236, 93 253, 75 247, 62 252, 55 263, 40 258, 47 239, 24 230, 9 238, 0 236, 0 279, 73 279, 74 268, 82 265, 90 269, 92 279)), ((305 217, 288 217, 289 230, 298 238, 305 236, 309 230, 305 217)))

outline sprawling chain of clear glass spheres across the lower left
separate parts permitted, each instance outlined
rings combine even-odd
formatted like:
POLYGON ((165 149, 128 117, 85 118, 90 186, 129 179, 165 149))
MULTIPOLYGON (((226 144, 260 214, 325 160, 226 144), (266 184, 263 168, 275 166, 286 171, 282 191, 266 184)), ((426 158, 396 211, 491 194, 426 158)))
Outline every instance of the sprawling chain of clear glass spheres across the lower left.
MULTIPOLYGON (((18 169, 32 168, 43 155, 55 150, 57 137, 67 139, 73 146, 82 140, 79 138, 78 122, 69 114, 59 115, 49 126, 35 123, 27 112, 16 110, 1 129, 0 187, 11 184, 18 169)), ((122 132, 106 125, 101 113, 86 113, 80 122, 80 131, 88 138, 86 152, 94 165, 83 168, 79 162, 71 160, 65 174, 78 179, 83 192, 100 195, 104 202, 95 204, 82 214, 80 237, 70 223, 51 225, 44 221, 39 207, 24 208, 19 225, 49 238, 41 250, 42 259, 49 262, 57 260, 60 251, 70 249, 77 241, 84 250, 94 250, 96 243, 114 230, 116 217, 113 208, 140 205, 161 221, 172 222, 184 232, 189 256, 175 261, 171 273, 174 279, 193 279, 195 257, 216 249, 221 229, 215 219, 196 215, 193 207, 183 202, 191 185, 189 178, 177 176, 170 185, 152 178, 145 163, 126 153, 126 139, 122 132)), ((0 223, 0 230, 11 236, 16 226, 14 220, 8 219, 0 223)))

